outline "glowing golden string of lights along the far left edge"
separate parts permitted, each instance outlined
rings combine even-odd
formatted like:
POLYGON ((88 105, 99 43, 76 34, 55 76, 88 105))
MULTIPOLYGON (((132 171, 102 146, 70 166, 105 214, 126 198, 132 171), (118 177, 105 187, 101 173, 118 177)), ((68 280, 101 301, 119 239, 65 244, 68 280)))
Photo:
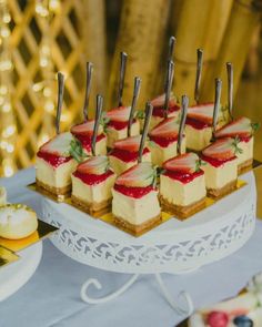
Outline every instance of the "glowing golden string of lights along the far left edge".
POLYGON ((0 0, 0 154, 4 176, 16 171, 13 159, 17 126, 11 104, 12 60, 10 51, 11 16, 7 0, 0 0))

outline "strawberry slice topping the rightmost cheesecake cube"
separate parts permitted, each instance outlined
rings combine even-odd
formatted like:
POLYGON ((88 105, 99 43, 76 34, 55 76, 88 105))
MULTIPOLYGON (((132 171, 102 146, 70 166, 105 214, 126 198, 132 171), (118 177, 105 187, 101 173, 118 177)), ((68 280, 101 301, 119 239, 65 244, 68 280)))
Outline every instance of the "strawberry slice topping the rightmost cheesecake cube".
POLYGON ((220 137, 249 137, 252 135, 253 129, 251 121, 246 117, 240 117, 214 133, 216 139, 220 137))

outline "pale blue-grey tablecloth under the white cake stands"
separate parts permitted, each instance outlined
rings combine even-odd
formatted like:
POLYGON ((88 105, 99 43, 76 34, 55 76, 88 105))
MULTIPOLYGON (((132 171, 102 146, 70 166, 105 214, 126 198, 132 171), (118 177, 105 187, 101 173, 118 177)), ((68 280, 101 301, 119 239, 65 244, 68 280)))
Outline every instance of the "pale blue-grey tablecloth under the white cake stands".
MULTIPOLYGON (((38 212, 39 195, 26 188, 33 178, 34 172, 29 168, 0 180, 0 184, 7 186, 10 202, 27 203, 38 212)), ((235 295, 262 270, 261 237, 262 222, 258 221, 252 238, 232 256, 187 275, 164 274, 169 290, 175 298, 185 289, 195 307, 235 295)), ((101 280, 102 290, 93 293, 101 296, 130 276, 79 264, 44 241, 42 262, 33 277, 0 304, 0 327, 171 327, 182 319, 165 302, 152 275, 139 277, 123 295, 102 305, 87 305, 80 299, 80 287, 90 277, 101 280)))

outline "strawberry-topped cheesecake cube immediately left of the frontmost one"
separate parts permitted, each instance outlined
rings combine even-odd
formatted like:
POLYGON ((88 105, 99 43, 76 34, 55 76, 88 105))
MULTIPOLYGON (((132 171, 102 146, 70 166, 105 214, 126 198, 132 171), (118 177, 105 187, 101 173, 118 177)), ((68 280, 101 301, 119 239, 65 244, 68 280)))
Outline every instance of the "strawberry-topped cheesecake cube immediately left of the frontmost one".
POLYGON ((72 174, 72 202, 91 215, 109 212, 115 174, 105 155, 93 156, 72 174))

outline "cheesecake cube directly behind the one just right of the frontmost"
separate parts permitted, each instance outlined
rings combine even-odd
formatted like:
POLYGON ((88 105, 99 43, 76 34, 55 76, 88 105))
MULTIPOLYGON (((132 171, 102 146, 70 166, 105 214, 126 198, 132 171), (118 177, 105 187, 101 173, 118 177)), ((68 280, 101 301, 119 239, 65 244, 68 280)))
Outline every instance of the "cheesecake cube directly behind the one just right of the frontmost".
MULTIPOLYGON (((153 165, 162 167, 163 162, 178 154, 179 123, 177 117, 169 117, 159 123, 149 133, 149 147, 153 165)), ((187 141, 188 142, 188 141, 187 141)), ((185 152, 185 136, 181 144, 181 153, 185 152)))

